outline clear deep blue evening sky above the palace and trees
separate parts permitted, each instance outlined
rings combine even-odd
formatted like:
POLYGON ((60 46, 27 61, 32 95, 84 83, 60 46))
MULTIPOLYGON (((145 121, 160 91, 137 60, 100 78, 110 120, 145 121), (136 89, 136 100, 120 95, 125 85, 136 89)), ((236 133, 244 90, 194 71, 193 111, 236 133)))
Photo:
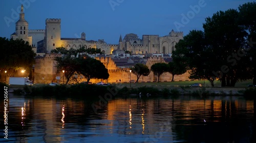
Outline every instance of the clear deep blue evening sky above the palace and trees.
POLYGON ((104 39, 118 44, 119 36, 134 33, 165 36, 172 30, 202 30, 206 17, 247 2, 245 0, 1 0, 0 37, 10 38, 20 5, 24 5, 29 29, 45 29, 46 18, 61 19, 61 37, 104 39), (193 10, 194 9, 194 10, 193 10))

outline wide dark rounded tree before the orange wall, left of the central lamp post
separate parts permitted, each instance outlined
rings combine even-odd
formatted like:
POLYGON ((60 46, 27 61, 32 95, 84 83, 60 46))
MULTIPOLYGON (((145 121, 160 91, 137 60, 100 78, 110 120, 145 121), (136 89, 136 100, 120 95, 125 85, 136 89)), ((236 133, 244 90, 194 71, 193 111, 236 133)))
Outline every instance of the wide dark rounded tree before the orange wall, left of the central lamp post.
POLYGON ((77 58, 77 73, 84 75, 87 78, 87 82, 90 79, 108 79, 108 69, 98 60, 90 58, 89 56, 80 56, 77 58))

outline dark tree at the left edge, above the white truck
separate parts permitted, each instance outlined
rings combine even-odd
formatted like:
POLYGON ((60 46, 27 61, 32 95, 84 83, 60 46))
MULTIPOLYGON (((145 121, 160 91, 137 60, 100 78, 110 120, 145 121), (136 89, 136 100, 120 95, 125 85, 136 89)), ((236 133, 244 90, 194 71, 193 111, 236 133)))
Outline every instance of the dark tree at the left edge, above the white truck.
POLYGON ((20 69, 32 68, 35 63, 35 52, 31 45, 22 39, 6 39, 0 37, 0 70, 7 70, 7 75, 12 76, 20 69))

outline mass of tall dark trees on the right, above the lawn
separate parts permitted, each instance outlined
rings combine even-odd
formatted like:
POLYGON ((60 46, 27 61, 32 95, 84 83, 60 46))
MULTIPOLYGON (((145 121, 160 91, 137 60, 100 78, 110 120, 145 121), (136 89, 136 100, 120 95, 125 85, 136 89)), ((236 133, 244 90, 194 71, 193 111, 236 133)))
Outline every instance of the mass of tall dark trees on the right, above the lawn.
POLYGON ((207 79, 212 87, 216 79, 222 87, 247 79, 256 84, 255 13, 251 2, 207 17, 204 31, 190 31, 177 43, 173 59, 183 61, 189 78, 207 79))

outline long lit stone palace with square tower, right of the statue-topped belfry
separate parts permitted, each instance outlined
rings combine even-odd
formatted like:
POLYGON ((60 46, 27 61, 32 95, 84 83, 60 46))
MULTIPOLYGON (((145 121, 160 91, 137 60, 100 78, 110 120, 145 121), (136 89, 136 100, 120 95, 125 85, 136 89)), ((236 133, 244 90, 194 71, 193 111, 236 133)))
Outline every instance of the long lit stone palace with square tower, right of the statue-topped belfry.
MULTIPOLYGON (((81 33, 80 38, 61 38, 60 33, 61 19, 46 19, 45 39, 38 42, 38 49, 44 49, 49 53, 56 47, 65 47, 67 49, 79 47, 100 48, 105 54, 113 54, 113 51, 131 51, 133 54, 148 53, 172 53, 176 43, 183 39, 182 32, 172 30, 168 35, 160 37, 159 35, 143 35, 142 39, 136 34, 127 34, 124 39, 119 37, 119 44, 107 44, 104 40, 86 40, 86 34, 81 33), (42 44, 44 43, 44 44, 42 44)), ((120 53, 120 52, 119 52, 120 53)))

